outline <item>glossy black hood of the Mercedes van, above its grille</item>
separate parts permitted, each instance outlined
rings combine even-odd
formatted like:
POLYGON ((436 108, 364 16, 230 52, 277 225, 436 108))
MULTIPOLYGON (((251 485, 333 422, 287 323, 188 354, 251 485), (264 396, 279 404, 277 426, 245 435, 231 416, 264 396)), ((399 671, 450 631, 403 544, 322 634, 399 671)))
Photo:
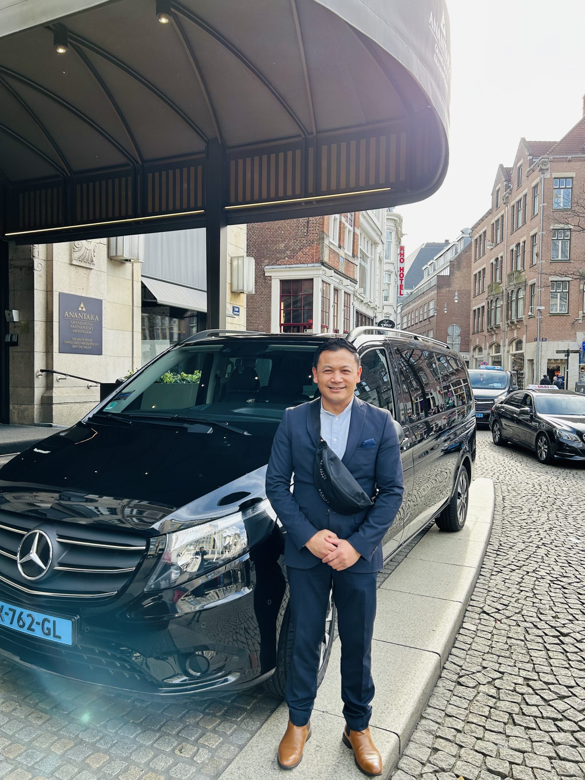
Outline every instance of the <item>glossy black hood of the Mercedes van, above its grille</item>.
POLYGON ((0 512, 101 526, 179 530, 264 498, 273 431, 90 420, 0 469, 0 512))

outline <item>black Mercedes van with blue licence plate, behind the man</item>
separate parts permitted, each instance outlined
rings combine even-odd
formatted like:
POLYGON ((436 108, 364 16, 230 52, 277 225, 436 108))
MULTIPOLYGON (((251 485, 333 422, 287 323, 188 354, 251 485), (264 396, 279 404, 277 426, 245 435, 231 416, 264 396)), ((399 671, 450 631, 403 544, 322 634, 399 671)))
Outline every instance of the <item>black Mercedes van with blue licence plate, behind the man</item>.
MULTIPOLYGON (((122 690, 232 691, 289 659, 283 531, 264 477, 287 406, 315 395, 326 335, 204 332, 87 417, 0 469, 0 653, 122 690)), ((392 412, 405 498, 389 558, 466 519, 476 424, 466 367, 439 342, 356 328, 356 395, 392 412)), ((335 622, 321 648, 324 675, 335 622)))

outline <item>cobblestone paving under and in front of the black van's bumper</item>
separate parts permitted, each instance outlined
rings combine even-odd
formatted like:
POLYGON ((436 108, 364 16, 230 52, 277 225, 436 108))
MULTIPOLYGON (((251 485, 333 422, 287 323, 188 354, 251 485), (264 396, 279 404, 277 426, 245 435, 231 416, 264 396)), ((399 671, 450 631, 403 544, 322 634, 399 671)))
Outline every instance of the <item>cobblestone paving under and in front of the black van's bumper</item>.
MULTIPOLYGON (((378 585, 424 533, 385 567, 378 585)), ((214 780, 280 701, 264 686, 227 697, 144 700, 0 659, 0 778, 214 780)))

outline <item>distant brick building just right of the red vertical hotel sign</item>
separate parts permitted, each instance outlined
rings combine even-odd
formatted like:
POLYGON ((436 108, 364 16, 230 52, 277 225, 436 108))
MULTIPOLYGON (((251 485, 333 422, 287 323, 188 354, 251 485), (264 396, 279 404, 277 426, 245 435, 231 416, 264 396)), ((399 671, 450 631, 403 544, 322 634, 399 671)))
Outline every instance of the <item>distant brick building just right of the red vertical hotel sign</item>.
POLYGON ((441 245, 423 280, 402 298, 402 330, 447 342, 470 359, 471 243, 469 230, 441 245))

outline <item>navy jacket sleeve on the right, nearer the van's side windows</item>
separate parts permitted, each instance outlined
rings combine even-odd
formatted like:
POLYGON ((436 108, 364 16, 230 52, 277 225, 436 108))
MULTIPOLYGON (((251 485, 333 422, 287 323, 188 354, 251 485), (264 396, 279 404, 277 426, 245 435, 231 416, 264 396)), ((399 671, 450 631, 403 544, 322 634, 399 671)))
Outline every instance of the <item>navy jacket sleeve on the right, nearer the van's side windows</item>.
POLYGON ((367 561, 371 561, 378 544, 394 523, 404 493, 400 444, 390 414, 386 418, 376 457, 376 485, 378 497, 374 506, 367 512, 366 519, 356 533, 347 540, 367 561))

